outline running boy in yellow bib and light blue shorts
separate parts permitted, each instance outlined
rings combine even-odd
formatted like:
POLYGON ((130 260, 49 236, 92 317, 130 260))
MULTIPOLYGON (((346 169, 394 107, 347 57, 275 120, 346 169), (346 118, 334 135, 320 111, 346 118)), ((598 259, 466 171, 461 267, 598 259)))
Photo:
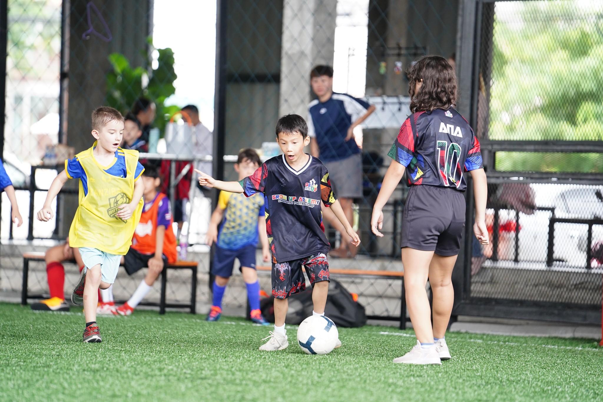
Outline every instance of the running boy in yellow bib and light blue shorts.
POLYGON ((101 342, 96 325, 98 289, 115 281, 119 261, 131 245, 142 212, 144 184, 138 180, 144 168, 138 151, 119 148, 124 117, 111 107, 92 112, 92 148, 65 161, 65 170, 52 181, 40 221, 52 219, 51 203, 68 178, 80 179, 80 206, 69 230, 69 244, 80 248, 84 269, 71 301, 84 302, 84 342, 101 342))

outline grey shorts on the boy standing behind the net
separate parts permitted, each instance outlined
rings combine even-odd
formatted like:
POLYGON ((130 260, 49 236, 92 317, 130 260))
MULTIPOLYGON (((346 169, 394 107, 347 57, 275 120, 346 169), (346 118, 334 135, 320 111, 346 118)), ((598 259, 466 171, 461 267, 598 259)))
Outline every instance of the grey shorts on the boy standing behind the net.
POLYGON ((337 198, 362 197, 362 154, 324 162, 329 170, 331 187, 337 198))

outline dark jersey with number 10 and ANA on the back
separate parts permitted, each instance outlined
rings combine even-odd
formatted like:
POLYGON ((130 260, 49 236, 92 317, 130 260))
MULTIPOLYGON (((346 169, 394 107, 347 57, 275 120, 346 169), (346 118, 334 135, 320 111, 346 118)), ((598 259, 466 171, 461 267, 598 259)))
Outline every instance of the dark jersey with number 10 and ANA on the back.
POLYGON ((463 172, 483 168, 479 141, 453 108, 413 113, 400 128, 390 157, 406 166, 408 186, 467 189, 463 172))

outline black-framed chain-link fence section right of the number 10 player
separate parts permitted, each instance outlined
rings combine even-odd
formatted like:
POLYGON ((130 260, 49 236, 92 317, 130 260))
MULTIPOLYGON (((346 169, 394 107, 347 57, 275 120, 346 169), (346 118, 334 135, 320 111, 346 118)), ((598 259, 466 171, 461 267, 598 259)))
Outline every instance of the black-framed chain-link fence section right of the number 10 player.
MULTIPOLYGON (((473 122, 488 169, 492 242, 468 249, 469 297, 573 306, 582 310, 575 319, 596 322, 602 9, 572 0, 500 1, 483 2, 477 14, 473 122)), ((556 314, 564 315, 549 319, 556 314)))

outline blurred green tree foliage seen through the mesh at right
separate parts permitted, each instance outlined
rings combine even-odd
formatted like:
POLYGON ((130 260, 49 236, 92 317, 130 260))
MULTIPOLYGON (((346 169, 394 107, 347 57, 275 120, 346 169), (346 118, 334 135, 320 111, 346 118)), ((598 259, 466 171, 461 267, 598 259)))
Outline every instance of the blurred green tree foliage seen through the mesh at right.
MULTIPOLYGON (((603 3, 497 3, 490 84, 491 140, 603 140, 603 3)), ((598 154, 540 158, 546 166, 527 156, 497 158, 497 169, 603 166, 598 154)))

